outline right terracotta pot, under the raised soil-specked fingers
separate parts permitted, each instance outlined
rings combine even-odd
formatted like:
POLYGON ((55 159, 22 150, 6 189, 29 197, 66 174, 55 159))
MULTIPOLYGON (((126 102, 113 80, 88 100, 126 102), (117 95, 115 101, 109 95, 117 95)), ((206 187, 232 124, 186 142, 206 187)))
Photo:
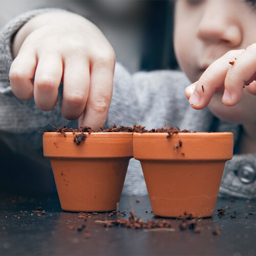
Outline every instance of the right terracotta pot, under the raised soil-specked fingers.
POLYGON ((156 216, 212 216, 232 158, 232 133, 136 133, 133 139, 156 216))

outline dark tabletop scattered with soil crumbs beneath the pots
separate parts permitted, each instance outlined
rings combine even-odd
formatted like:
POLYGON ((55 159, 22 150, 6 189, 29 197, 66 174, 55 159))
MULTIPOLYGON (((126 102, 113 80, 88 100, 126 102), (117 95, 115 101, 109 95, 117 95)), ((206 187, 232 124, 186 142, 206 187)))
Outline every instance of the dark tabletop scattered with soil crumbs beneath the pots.
MULTIPOLYGON (((131 202, 137 217, 162 220, 152 214, 147 196, 133 196, 132 200, 122 196, 119 210, 126 216, 120 217, 129 218, 131 202)), ((105 228, 104 223, 95 222, 118 218, 109 217, 110 213, 90 214, 91 218, 84 221, 78 213, 62 211, 56 194, 1 195, 0 255, 255 255, 255 212, 256 201, 219 199, 214 216, 199 220, 200 233, 180 230, 181 220, 176 219, 170 219, 173 229, 146 231, 105 228), (37 207, 41 207, 38 212, 37 207), (226 210, 221 218, 217 211, 220 208, 226 210), (86 227, 77 230, 81 225, 86 227), (216 227, 221 230, 219 236, 212 233, 216 227)))

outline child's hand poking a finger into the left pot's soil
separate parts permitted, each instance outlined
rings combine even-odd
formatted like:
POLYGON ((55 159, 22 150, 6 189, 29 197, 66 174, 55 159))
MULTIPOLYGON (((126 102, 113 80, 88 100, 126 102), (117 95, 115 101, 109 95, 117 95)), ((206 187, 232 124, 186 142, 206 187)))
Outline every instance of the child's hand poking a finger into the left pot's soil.
POLYGON ((39 109, 50 111, 63 80, 63 117, 80 117, 79 125, 94 130, 104 125, 112 97, 115 54, 95 25, 69 12, 38 15, 18 31, 13 56, 9 77, 19 99, 34 96, 39 109))

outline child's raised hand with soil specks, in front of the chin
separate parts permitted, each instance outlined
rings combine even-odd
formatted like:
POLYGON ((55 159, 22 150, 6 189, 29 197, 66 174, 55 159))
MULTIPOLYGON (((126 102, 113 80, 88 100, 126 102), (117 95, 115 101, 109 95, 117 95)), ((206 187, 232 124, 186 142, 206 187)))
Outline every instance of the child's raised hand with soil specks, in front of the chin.
POLYGON ((203 109, 218 92, 224 91, 222 102, 236 105, 243 88, 256 95, 256 44, 243 50, 232 50, 213 62, 200 79, 186 88, 185 94, 194 109, 203 109), (247 86, 247 84, 249 84, 247 86))

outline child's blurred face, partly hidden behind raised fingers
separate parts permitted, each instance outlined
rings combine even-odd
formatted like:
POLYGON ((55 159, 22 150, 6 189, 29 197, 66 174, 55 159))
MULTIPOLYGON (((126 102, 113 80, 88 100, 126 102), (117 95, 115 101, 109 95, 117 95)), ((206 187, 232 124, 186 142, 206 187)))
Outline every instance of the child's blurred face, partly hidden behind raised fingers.
MULTIPOLYGON (((256 42, 255 25, 256 0, 177 0, 174 46, 181 69, 191 82, 197 81, 229 50, 256 42)), ((211 111, 227 121, 241 122, 238 105, 224 106, 221 98, 222 93, 214 95, 211 111), (231 110, 237 113, 230 115, 231 110)))

